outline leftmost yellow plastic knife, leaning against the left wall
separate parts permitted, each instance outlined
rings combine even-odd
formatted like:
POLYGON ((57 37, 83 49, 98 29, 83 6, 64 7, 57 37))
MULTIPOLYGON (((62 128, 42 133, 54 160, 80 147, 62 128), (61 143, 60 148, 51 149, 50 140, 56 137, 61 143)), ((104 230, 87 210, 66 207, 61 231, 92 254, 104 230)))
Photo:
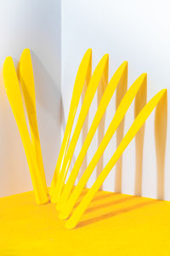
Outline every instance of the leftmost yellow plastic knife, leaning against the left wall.
POLYGON ((3 82, 7 92, 8 101, 14 113, 14 118, 18 125, 20 137, 25 148, 26 159, 31 172, 31 180, 37 204, 44 204, 48 202, 48 195, 47 191, 44 189, 35 150, 31 144, 30 135, 26 125, 23 102, 20 95, 20 85, 14 67, 14 62, 11 57, 7 57, 3 64, 3 82))

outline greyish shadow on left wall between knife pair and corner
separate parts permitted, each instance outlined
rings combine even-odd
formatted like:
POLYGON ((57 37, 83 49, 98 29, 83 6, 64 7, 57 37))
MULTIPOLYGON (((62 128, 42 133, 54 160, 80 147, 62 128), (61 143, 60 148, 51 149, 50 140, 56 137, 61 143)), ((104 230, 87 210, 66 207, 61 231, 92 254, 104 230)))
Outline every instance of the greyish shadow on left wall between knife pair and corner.
POLYGON ((47 183, 50 184, 60 148, 60 125, 62 119, 60 79, 57 78, 56 82, 51 78, 33 51, 31 51, 31 59, 35 74, 37 119, 42 145, 42 157, 47 183))

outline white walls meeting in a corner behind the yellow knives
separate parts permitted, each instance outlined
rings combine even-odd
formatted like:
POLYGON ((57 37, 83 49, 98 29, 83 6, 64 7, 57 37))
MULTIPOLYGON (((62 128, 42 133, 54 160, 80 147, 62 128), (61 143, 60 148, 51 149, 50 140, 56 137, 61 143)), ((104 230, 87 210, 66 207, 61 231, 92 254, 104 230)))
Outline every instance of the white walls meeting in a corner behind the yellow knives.
MULTIPOLYGON (((170 16, 169 1, 135 0, 1 0, 0 64, 7 55, 14 61, 22 49, 30 48, 37 92, 37 118, 45 171, 50 183, 60 146, 61 96, 65 119, 82 55, 93 49, 93 70, 102 55, 110 55, 110 79, 122 61, 128 61, 128 87, 141 73, 148 73, 148 99, 167 88, 169 100, 170 16), (61 6, 60 6, 61 5, 61 6), (61 61, 62 60, 62 61, 61 61)), ((1 86, 0 86, 1 87, 1 86)), ((18 128, 1 88, 0 93, 0 196, 32 189, 26 156, 18 128)), ((90 120, 96 110, 96 98, 90 120)), ((115 112, 115 97, 107 110, 106 127, 115 112)), ((165 199, 170 200, 170 137, 167 118, 165 199)), ((133 105, 125 121, 125 132, 133 122, 133 105)), ((65 123, 65 122, 64 122, 65 123)), ((105 127, 105 128, 106 128, 105 127)), ((109 144, 105 163, 116 148, 109 144)), ((76 156, 81 148, 78 142, 76 156)), ((88 161, 97 148, 96 136, 88 161)), ((115 190, 115 168, 104 189, 115 190)), ((135 144, 123 154, 122 192, 133 194, 135 144)), ((88 185, 94 182, 95 172, 88 185)), ((142 194, 156 197, 156 150, 154 113, 145 126, 142 194)))

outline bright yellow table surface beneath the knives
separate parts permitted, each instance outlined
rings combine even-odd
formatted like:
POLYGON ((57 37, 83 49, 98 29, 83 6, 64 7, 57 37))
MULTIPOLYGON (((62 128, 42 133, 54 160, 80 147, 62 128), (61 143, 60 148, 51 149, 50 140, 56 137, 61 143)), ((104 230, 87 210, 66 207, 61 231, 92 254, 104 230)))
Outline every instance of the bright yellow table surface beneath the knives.
MULTIPOLYGON (((85 193, 85 192, 84 192, 85 193)), ((170 202, 99 191, 74 230, 33 192, 0 199, 0 255, 170 255, 170 202)))

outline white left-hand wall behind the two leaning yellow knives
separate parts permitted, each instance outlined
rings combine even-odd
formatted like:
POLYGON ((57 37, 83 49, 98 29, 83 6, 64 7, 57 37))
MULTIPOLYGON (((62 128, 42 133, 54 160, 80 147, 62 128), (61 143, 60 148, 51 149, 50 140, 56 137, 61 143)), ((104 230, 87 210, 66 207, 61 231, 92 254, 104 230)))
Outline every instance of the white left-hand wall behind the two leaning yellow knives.
MULTIPOLYGON (((60 1, 2 0, 0 64, 30 48, 37 94, 37 119, 48 184, 60 146, 60 1)), ((32 189, 26 155, 3 87, 0 93, 0 196, 32 189)))

